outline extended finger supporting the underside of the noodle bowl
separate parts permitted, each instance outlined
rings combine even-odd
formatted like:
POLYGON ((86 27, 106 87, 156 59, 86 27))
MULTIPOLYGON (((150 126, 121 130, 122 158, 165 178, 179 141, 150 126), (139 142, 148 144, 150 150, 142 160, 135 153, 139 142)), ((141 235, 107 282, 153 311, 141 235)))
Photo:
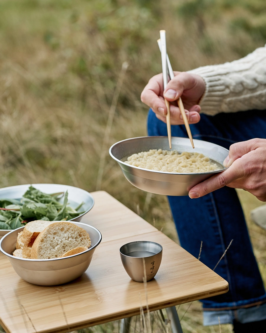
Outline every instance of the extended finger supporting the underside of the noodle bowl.
POLYGON ((245 174, 241 163, 237 161, 227 170, 217 173, 214 176, 202 181, 196 186, 192 187, 189 191, 190 198, 199 198, 206 195, 218 188, 230 184, 235 179, 241 178, 245 174))

